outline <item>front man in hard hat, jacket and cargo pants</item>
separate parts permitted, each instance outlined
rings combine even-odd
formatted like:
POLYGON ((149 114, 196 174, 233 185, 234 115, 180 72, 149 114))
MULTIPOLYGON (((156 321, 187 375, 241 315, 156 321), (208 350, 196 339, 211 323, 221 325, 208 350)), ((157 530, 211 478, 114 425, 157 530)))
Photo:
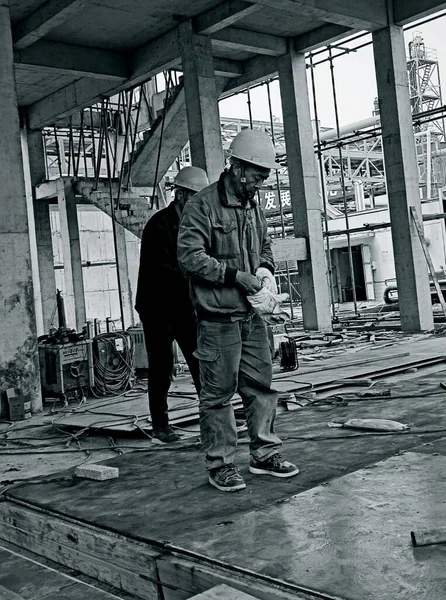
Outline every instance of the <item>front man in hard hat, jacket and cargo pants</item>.
POLYGON ((243 130, 229 148, 218 182, 187 204, 180 222, 178 260, 191 280, 198 319, 200 431, 209 482, 224 492, 246 484, 234 465, 237 431, 231 399, 242 397, 250 437, 249 471, 291 477, 299 469, 279 454, 274 431, 277 393, 266 326, 248 295, 276 291, 265 216, 255 194, 275 162, 266 133, 243 130))

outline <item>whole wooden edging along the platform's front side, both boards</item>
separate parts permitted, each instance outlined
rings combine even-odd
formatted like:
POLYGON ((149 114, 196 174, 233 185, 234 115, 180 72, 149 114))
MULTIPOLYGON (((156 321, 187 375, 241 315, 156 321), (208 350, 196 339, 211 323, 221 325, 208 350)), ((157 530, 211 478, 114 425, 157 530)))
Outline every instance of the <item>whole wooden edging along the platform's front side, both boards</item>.
POLYGON ((253 592, 259 600, 301 598, 279 581, 266 581, 230 565, 210 564, 198 556, 185 558, 181 549, 168 544, 160 554, 150 544, 18 501, 0 502, 0 537, 144 600, 160 598, 156 581, 163 589, 163 600, 186 600, 222 583, 246 594, 253 592))

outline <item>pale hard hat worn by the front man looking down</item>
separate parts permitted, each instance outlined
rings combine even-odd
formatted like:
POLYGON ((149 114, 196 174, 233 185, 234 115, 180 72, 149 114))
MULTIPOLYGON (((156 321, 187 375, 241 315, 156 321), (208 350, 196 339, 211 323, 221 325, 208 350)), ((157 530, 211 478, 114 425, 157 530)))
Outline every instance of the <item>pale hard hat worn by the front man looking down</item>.
POLYGON ((228 154, 264 169, 280 169, 269 135, 258 129, 242 129, 232 140, 228 154))

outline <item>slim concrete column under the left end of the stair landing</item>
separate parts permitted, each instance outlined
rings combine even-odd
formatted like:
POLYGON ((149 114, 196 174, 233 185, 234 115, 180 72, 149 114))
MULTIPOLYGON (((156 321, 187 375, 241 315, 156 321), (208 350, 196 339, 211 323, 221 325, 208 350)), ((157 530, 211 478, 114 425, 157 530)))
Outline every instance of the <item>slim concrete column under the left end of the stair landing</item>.
POLYGON ((67 327, 82 330, 86 321, 84 278, 79 237, 76 196, 71 184, 57 181, 57 203, 60 213, 65 289, 65 314, 67 327))

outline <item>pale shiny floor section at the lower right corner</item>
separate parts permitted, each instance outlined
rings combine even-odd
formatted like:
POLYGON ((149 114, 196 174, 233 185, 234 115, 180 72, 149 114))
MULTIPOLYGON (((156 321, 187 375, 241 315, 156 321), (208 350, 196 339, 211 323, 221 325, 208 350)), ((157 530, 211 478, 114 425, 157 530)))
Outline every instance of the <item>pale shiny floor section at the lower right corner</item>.
POLYGON ((445 469, 408 452, 176 544, 343 600, 440 600, 446 545, 414 549, 410 531, 446 523, 445 469))

